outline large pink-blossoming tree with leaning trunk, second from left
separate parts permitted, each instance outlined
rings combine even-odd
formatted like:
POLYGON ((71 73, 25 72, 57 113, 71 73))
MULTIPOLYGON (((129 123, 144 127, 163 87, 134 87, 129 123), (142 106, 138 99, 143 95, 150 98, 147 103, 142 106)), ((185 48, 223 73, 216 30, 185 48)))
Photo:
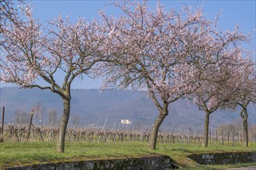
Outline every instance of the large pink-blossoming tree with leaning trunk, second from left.
POLYGON ((159 2, 156 11, 150 11, 146 1, 115 6, 123 12, 117 19, 101 12, 109 32, 106 53, 113 61, 107 63, 103 87, 148 91, 159 111, 148 145, 155 149, 169 104, 199 87, 197 66, 212 22, 200 9, 192 12, 187 6, 181 12, 167 11, 159 2))

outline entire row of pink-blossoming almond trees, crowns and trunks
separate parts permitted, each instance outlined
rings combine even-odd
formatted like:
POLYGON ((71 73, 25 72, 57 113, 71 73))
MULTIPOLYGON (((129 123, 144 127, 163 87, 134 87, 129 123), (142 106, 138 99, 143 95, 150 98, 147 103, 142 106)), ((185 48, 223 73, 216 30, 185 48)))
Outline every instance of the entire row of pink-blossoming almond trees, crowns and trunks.
POLYGON ((169 105, 181 97, 206 112, 203 146, 208 144, 209 115, 219 108, 242 107, 247 131, 247 105, 256 98, 254 54, 243 49, 250 35, 238 26, 233 32, 222 30, 218 17, 206 19, 200 8, 166 10, 157 2, 151 11, 146 1, 123 1, 113 4, 122 12, 117 17, 100 12, 100 21, 71 23, 60 16, 43 27, 29 5, 20 5, 20 11, 9 0, 1 5, 1 80, 51 90, 63 99, 58 151, 64 152, 76 78, 100 76, 103 88, 147 90, 159 110, 149 149, 156 148, 169 105))

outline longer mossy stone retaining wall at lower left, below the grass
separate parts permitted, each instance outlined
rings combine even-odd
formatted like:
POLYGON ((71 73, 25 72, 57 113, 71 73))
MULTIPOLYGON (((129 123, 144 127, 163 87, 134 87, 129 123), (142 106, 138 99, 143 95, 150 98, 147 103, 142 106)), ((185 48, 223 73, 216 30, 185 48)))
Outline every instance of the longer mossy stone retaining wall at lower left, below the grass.
POLYGON ((168 170, 178 168, 175 163, 168 156, 154 156, 147 158, 123 158, 110 160, 94 160, 94 161, 80 161, 80 162, 60 162, 40 165, 29 165, 6 168, 8 170, 81 170, 81 169, 129 169, 129 170, 168 170))

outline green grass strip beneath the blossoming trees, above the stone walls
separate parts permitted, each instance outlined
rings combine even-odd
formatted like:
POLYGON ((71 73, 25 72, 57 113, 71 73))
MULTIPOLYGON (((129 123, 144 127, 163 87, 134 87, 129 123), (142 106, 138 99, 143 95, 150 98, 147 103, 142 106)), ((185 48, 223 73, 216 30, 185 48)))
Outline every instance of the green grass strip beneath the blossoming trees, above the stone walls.
POLYGON ((189 144, 157 144, 157 150, 147 150, 146 142, 67 142, 64 154, 56 151, 55 142, 10 142, 0 143, 0 168, 14 165, 39 164, 42 162, 69 162, 89 159, 109 159, 140 157, 143 155, 169 155, 184 169, 225 169, 251 164, 239 165, 197 165, 187 155, 233 151, 255 151, 256 143, 248 148, 242 146, 209 145, 202 148, 201 145, 189 144))

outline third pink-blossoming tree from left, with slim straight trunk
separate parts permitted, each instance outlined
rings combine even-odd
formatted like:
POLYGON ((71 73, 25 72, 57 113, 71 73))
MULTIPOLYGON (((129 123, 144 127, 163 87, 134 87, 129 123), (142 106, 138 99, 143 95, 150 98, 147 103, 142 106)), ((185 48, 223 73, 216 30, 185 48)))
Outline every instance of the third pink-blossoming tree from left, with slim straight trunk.
POLYGON ((234 107, 230 100, 235 97, 234 92, 238 88, 238 84, 234 83, 239 77, 237 70, 246 65, 242 43, 248 42, 249 35, 238 32, 238 26, 230 32, 216 29, 215 25, 209 37, 208 44, 200 49, 203 55, 197 68, 201 74, 195 78, 200 87, 186 96, 206 113, 203 147, 208 145, 210 114, 218 108, 234 107))

